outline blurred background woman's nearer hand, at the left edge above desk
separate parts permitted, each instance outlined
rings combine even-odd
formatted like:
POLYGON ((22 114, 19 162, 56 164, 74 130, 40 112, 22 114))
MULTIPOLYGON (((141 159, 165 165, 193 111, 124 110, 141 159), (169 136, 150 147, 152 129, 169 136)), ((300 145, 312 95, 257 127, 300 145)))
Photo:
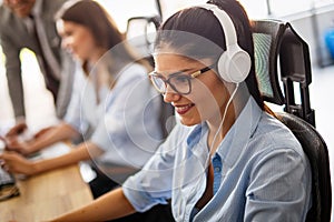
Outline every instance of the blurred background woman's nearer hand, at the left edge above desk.
POLYGON ((36 173, 33 162, 16 152, 3 152, 0 154, 0 163, 6 171, 11 173, 21 173, 24 175, 32 175, 36 173))

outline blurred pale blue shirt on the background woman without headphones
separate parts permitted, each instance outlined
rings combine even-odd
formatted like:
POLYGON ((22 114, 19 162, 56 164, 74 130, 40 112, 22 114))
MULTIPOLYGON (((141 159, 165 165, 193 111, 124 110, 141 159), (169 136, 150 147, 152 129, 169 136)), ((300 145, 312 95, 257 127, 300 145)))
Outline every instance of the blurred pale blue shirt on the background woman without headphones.
MULTIPOLYGON (((78 70, 78 69, 77 69, 78 70)), ((134 63, 118 73, 116 84, 99 90, 81 72, 76 73, 73 95, 65 121, 78 132, 91 125, 90 142, 105 153, 102 163, 141 168, 161 143, 160 95, 147 70, 134 63)))

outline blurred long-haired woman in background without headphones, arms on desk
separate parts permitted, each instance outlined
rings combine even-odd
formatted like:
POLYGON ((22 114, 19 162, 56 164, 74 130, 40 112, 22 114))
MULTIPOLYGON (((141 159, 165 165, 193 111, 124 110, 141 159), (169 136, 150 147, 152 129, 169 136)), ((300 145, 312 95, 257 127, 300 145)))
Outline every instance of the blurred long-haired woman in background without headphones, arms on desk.
MULTIPOLYGON (((68 154, 49 160, 29 161, 14 152, 4 153, 4 168, 32 175, 91 159, 134 171, 140 169, 163 139, 159 94, 147 78, 151 68, 137 59, 96 1, 63 4, 57 16, 57 29, 62 47, 81 67, 65 121, 31 141, 13 140, 8 149, 27 155, 80 133, 86 135, 85 141, 68 154), (92 131, 91 137, 87 130, 92 131)), ((107 186, 92 182, 94 195, 118 185, 116 182, 107 180, 107 186)))

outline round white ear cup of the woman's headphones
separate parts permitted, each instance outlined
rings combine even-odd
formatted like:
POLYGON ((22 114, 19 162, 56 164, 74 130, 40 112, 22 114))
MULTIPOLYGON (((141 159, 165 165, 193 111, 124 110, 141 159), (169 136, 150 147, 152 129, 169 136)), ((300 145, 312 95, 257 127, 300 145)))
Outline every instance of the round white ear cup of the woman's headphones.
POLYGON ((237 44, 229 46, 218 60, 218 72, 223 80, 233 83, 244 81, 250 70, 249 54, 237 44))

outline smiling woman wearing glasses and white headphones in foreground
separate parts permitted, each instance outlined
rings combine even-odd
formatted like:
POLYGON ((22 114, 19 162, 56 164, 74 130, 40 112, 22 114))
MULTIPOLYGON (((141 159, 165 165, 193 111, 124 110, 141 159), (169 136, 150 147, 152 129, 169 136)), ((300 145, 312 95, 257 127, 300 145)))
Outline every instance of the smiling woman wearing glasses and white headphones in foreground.
POLYGON ((150 79, 181 124, 122 188, 55 221, 119 218, 170 198, 176 221, 304 221, 310 164, 262 101, 239 2, 210 0, 171 16, 155 62, 150 79))

